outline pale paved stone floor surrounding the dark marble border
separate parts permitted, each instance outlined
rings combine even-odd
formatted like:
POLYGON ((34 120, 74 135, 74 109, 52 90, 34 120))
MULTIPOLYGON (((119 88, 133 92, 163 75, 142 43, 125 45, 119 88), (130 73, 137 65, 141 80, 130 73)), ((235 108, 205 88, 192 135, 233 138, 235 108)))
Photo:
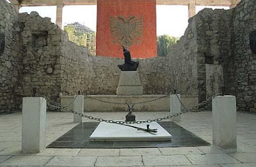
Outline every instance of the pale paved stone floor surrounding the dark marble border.
MULTIPOLYGON (((125 114, 86 113, 115 120, 124 120, 125 114)), ((136 118, 152 119, 166 115, 167 112, 138 112, 136 118)), ((212 147, 169 147, 46 149, 38 154, 22 154, 21 118, 20 112, 0 115, 0 166, 256 166, 255 114, 237 112, 237 152, 221 151, 212 147)), ((72 113, 47 112, 47 144, 76 126, 72 120, 72 113)), ((186 113, 178 124, 212 143, 211 112, 186 113)))

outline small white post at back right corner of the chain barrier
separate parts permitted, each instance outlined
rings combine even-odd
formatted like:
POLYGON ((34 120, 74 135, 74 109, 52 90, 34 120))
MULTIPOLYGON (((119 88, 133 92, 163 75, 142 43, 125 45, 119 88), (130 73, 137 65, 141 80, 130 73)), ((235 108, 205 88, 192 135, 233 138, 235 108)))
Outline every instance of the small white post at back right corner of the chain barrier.
MULTIPOLYGON (((170 95, 170 115, 174 115, 175 113, 180 112, 180 101, 177 96, 180 99, 180 94, 177 94, 177 95, 171 94, 170 95)), ((172 117, 171 121, 180 122, 180 115, 177 117, 172 117)))

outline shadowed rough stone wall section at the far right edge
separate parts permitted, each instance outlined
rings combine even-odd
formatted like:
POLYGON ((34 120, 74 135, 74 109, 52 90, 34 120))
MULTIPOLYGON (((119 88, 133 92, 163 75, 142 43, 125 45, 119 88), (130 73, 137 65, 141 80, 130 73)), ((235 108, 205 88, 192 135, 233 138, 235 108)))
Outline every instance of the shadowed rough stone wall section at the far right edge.
POLYGON ((255 0, 241 1, 234 8, 233 21, 237 106, 239 110, 256 112, 256 54, 250 50, 249 40, 249 34, 256 31, 255 0))

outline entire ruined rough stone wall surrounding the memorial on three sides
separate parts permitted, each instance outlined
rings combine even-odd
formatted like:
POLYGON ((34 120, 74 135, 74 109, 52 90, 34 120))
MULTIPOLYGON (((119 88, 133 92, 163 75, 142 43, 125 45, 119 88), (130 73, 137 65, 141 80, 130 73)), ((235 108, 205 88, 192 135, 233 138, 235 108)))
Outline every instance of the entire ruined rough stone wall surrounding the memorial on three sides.
MULTIPOLYGON (((203 10, 167 57, 137 59, 143 94, 167 94, 176 89, 198 102, 221 92, 237 96, 239 110, 256 112, 256 55, 249 34, 256 31, 255 3, 241 1, 232 10, 203 10)), ((50 18, 36 12, 18 14, 0 1, 0 112, 20 107, 36 88, 60 102, 60 94, 116 94, 123 59, 88 55, 88 49, 68 41, 50 18)), ((120 49, 122 52, 122 49, 120 49)), ((132 55, 132 52, 131 52, 132 55)))

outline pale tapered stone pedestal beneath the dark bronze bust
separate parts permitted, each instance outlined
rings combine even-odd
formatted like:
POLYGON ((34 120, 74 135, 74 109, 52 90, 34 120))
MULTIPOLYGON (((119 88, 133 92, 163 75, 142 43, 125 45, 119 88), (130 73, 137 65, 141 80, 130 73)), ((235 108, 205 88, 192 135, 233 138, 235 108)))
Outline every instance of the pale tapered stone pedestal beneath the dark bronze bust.
POLYGON ((142 95, 142 92, 143 87, 138 71, 121 71, 116 94, 131 96, 142 95))

